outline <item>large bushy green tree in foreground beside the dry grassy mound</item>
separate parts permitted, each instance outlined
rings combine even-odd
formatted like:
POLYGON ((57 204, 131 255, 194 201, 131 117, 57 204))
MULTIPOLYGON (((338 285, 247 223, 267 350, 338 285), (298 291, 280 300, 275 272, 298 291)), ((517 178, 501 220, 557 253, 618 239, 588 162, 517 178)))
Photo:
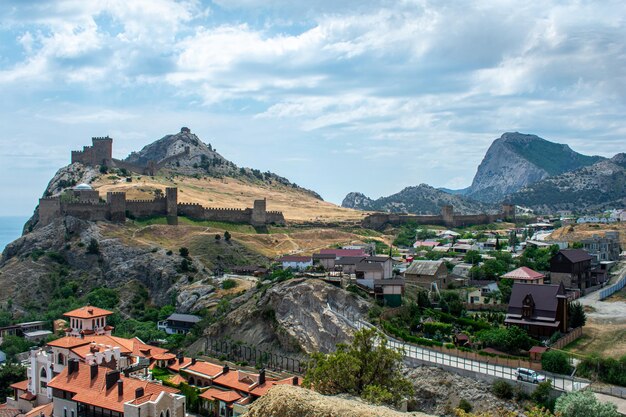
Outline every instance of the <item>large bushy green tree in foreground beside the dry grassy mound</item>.
POLYGON ((351 345, 339 344, 330 354, 312 354, 304 385, 321 394, 347 393, 376 404, 398 404, 413 395, 401 364, 402 354, 387 347, 384 336, 376 329, 362 329, 351 345))

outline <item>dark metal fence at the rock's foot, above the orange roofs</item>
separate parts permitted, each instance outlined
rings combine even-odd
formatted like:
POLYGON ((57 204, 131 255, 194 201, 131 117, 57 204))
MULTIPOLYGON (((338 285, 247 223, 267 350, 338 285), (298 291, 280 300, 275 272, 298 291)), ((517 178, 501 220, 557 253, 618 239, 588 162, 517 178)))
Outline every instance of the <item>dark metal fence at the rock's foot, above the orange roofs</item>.
POLYGON ((204 346, 208 356, 225 357, 234 362, 247 362, 257 368, 265 367, 275 372, 291 372, 302 375, 306 368, 306 364, 300 359, 260 350, 230 340, 207 337, 204 346))

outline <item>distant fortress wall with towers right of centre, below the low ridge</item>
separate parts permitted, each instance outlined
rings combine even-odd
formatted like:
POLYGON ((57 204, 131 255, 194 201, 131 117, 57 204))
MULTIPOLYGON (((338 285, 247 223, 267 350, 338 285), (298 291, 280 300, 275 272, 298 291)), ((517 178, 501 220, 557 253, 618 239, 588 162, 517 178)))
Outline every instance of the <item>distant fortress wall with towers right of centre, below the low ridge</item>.
POLYGON ((515 221, 515 206, 503 204, 502 212, 498 214, 470 214, 454 213, 452 206, 443 206, 440 215, 418 216, 414 214, 375 213, 363 219, 361 225, 368 229, 382 229, 387 224, 398 226, 413 222, 426 225, 443 225, 447 227, 462 227, 477 224, 489 224, 497 220, 515 221))

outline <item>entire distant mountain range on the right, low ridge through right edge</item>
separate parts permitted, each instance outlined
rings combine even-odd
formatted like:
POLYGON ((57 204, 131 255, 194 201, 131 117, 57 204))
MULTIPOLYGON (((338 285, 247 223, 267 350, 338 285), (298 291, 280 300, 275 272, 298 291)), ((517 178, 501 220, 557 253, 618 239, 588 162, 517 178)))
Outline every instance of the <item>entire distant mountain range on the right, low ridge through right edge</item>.
POLYGON ((493 210, 503 201, 538 212, 623 207, 623 161, 624 154, 607 160, 536 135, 504 133, 487 150, 468 188, 435 189, 422 184, 378 200, 352 192, 342 206, 416 214, 437 214, 445 204, 472 214, 493 210))

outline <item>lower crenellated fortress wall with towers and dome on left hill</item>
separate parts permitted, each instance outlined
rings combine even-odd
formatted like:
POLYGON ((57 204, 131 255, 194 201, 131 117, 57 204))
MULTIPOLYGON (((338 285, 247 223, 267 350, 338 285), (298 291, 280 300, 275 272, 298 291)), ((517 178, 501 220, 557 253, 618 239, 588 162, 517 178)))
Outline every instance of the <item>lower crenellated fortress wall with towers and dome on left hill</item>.
POLYGON ((200 204, 179 203, 178 189, 166 188, 165 196, 153 200, 128 200, 124 192, 108 192, 106 200, 87 184, 80 184, 65 194, 39 199, 39 223, 46 225, 62 216, 89 221, 125 222, 126 218, 166 216, 168 224, 178 224, 178 216, 194 220, 248 223, 252 226, 285 224, 279 211, 267 211, 266 201, 255 200, 252 208, 208 208, 200 204))

